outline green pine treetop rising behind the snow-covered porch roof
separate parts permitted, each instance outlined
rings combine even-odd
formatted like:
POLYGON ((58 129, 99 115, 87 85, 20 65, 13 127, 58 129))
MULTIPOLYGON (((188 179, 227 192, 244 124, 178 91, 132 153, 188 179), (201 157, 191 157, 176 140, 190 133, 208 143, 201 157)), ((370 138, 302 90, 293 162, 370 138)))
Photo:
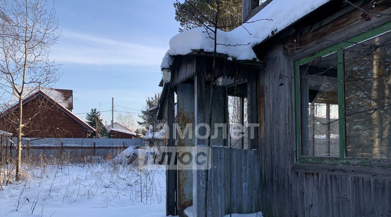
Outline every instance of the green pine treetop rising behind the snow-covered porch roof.
MULTIPOLYGON (((215 0, 188 0, 190 4, 198 9, 206 18, 209 20, 214 20, 217 12, 217 4, 215 0)), ((207 19, 199 15, 197 11, 195 11, 194 7, 190 6, 189 3, 183 2, 180 5, 178 2, 174 3, 175 7, 175 20, 178 21, 182 28, 179 28, 179 32, 183 32, 185 30, 193 29, 195 27, 203 26, 199 20, 203 23, 209 24, 212 26, 212 23, 209 23, 207 19), (186 9, 185 9, 185 8, 186 9), (197 20, 192 14, 188 13, 188 11, 192 11, 193 14, 197 15, 197 20)), ((220 0, 220 17, 219 17, 219 26, 230 26, 223 27, 220 30, 230 31, 237 27, 237 23, 242 21, 242 0, 220 0)))

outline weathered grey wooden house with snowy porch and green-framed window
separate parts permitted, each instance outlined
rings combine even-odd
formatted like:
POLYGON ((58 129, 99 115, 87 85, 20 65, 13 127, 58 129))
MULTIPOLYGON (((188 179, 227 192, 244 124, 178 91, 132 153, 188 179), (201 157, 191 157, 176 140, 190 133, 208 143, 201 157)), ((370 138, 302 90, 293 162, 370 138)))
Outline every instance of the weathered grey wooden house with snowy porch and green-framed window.
MULTIPOLYGON (((192 206, 196 217, 258 211, 265 217, 390 216, 391 2, 254 2, 242 1, 243 21, 273 19, 265 17, 271 13, 290 20, 251 23, 259 25, 255 30, 273 29, 251 45, 256 59, 219 53, 212 74, 213 54, 203 47, 170 55, 171 78, 159 108, 168 111, 170 133, 175 103, 180 130, 208 122, 229 126, 230 99, 239 102, 239 122, 259 125, 248 132, 247 147, 213 138, 207 173, 167 170, 167 215, 187 216, 192 206)), ((172 133, 168 145, 176 139, 172 133)), ((178 146, 207 143, 178 138, 178 146)))

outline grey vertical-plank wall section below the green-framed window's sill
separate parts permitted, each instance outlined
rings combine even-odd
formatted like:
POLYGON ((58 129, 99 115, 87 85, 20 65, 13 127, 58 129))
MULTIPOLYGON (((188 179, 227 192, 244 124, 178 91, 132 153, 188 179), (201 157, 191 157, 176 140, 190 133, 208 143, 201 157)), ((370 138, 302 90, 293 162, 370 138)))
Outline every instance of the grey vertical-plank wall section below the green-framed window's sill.
POLYGON ((291 216, 391 215, 391 180, 302 172, 292 172, 292 179, 291 216))

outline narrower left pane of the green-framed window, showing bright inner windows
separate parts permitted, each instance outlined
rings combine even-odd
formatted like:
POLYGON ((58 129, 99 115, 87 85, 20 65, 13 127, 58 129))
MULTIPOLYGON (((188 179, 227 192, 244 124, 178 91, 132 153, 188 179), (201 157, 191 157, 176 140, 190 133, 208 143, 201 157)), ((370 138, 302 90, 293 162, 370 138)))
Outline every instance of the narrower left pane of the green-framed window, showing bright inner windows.
POLYGON ((338 157, 337 55, 316 59, 300 70, 302 156, 338 157))

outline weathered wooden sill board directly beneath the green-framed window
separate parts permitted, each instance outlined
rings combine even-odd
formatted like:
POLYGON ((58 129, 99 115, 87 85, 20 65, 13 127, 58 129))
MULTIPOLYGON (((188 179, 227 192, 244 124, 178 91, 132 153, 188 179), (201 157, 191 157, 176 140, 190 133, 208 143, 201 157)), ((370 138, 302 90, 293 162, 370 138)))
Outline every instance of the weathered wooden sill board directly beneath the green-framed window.
POLYGON ((296 163, 292 172, 321 173, 326 175, 355 176, 374 179, 391 179, 391 168, 348 166, 322 163, 296 163))

